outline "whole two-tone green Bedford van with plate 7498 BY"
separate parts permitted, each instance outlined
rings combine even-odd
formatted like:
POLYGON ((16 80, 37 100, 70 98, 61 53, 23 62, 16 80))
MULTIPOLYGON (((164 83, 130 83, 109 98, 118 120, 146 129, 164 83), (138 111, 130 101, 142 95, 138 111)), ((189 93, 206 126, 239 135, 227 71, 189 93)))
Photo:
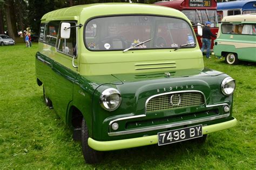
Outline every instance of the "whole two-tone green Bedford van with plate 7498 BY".
POLYGON ((180 11, 130 3, 72 6, 42 17, 38 46, 36 76, 45 103, 82 141, 88 163, 99 162, 103 151, 204 141, 237 124, 235 81, 204 67, 196 34, 180 11))

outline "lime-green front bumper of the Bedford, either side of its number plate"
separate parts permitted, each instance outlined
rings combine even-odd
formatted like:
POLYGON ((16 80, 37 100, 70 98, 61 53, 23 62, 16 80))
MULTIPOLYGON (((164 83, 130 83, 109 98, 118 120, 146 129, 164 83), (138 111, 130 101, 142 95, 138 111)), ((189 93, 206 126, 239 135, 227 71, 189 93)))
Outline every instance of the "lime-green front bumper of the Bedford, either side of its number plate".
MULTIPOLYGON (((229 129, 237 125, 237 119, 233 118, 231 121, 203 126, 203 134, 208 134, 224 129, 229 129)), ((113 140, 113 141, 97 141, 92 138, 88 139, 88 145, 96 151, 112 151, 120 150, 124 148, 138 147, 158 144, 158 136, 146 136, 139 138, 123 139, 123 140, 113 140)))

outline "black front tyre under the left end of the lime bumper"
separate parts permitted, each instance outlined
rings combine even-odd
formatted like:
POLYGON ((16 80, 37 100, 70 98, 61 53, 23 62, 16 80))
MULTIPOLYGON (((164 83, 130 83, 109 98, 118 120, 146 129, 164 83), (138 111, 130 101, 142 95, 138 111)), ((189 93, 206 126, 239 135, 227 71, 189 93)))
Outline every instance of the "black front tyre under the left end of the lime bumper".
POLYGON ((81 139, 82 139, 82 151, 84 155, 84 160, 88 164, 97 164, 103 159, 103 152, 95 151, 88 145, 89 132, 86 126, 86 122, 83 118, 82 121, 82 131, 81 131, 81 139))

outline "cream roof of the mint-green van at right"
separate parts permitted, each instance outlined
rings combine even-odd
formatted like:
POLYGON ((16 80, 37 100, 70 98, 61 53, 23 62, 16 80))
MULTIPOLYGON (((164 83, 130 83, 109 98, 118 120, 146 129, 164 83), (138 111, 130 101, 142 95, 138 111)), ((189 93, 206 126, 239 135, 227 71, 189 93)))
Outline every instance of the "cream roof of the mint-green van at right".
POLYGON ((241 23, 256 23, 256 13, 226 16, 221 20, 222 23, 241 22, 241 23))

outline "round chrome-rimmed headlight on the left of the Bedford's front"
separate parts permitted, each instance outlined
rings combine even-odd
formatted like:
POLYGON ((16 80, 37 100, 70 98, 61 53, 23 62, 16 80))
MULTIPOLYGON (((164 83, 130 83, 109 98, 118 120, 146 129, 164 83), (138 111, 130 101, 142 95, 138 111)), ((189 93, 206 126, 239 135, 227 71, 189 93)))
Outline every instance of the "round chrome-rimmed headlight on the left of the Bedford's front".
POLYGON ((99 99, 102 108, 108 111, 116 110, 122 100, 120 92, 114 88, 104 90, 99 99))

